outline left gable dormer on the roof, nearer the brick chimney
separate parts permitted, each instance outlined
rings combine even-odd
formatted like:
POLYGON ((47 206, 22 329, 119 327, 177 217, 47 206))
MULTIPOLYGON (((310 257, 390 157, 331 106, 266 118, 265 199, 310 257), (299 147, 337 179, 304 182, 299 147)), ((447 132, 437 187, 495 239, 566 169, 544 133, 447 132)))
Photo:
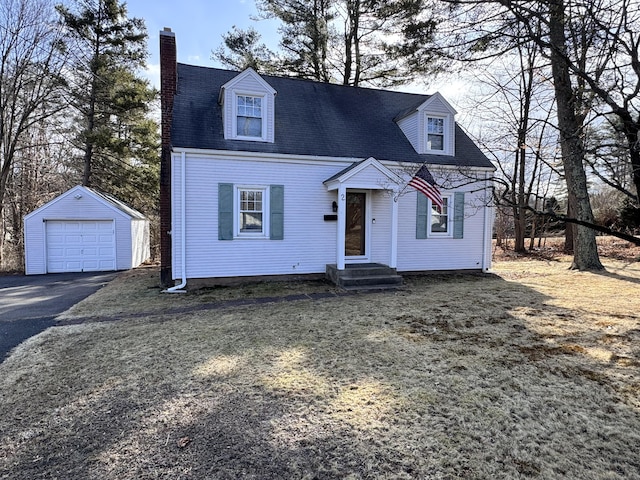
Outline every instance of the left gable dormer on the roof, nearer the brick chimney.
POLYGON ((247 68, 220 89, 224 138, 273 143, 276 91, 247 68))

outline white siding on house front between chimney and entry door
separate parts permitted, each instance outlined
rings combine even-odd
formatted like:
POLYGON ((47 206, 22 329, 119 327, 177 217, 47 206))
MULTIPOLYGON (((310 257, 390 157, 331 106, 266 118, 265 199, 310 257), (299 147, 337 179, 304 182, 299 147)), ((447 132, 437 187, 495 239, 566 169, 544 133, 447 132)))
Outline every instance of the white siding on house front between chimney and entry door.
MULTIPOLYGON (((340 165, 340 164, 338 164, 340 165)), ((342 166, 211 160, 188 155, 187 173, 187 277, 233 277, 322 273, 335 263, 336 223, 331 214, 335 192, 322 184, 342 166), (244 241, 218 240, 219 184, 284 184, 284 236, 244 241)), ((179 185, 180 161, 173 161, 173 182, 179 185)), ((271 188, 271 187, 270 187, 271 188)), ((173 189, 173 274, 180 272, 180 208, 173 189)))

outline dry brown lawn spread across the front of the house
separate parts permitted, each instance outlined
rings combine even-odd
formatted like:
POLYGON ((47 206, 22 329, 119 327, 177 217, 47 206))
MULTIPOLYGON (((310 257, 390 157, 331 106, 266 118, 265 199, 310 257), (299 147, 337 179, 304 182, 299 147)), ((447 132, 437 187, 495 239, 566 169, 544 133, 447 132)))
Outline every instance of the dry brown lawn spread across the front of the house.
POLYGON ((640 478, 640 264, 605 262, 355 295, 120 275, 0 365, 0 478, 640 478))

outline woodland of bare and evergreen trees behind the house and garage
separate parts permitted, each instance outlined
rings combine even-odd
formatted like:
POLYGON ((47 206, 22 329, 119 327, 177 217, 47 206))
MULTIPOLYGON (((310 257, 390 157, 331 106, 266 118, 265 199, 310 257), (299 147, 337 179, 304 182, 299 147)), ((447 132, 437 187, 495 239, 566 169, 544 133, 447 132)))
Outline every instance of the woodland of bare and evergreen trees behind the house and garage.
MULTIPOLYGON (((524 253, 565 234, 573 268, 600 269, 597 232, 640 243, 637 0, 256 4, 279 22, 278 48, 261 41, 257 18, 213 36, 212 63, 374 88, 467 79, 461 108, 472 114, 459 121, 497 167, 487 198, 498 244, 524 253)), ((24 216, 77 184, 147 215, 155 256, 148 48, 144 20, 118 0, 0 5, 1 271, 23 270, 24 216)))

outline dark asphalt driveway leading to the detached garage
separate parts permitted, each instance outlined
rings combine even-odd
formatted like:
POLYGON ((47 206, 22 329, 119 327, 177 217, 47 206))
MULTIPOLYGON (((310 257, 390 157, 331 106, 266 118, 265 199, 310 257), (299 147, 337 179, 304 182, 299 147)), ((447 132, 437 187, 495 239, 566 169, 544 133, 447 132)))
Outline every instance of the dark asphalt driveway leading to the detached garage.
POLYGON ((0 276, 0 362, 55 317, 113 280, 117 272, 0 276))

